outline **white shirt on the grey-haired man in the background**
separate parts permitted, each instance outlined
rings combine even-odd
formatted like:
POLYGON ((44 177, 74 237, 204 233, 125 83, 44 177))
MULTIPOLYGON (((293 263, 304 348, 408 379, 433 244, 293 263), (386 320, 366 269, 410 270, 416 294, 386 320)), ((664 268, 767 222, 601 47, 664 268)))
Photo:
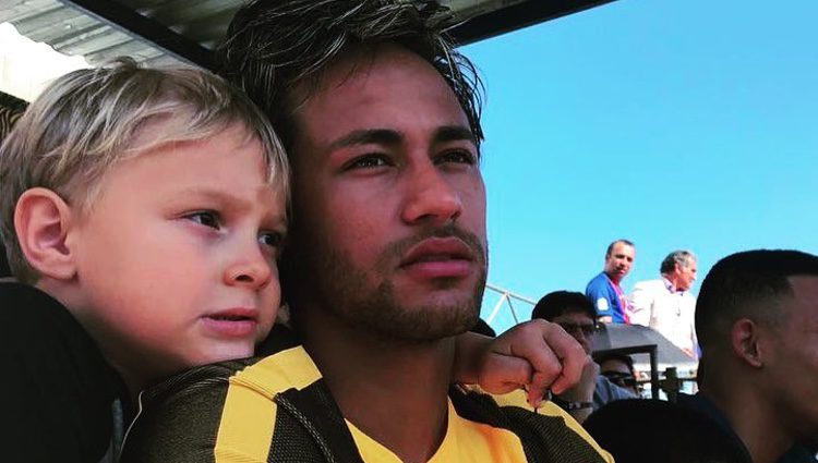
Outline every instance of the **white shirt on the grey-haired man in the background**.
POLYGON ((696 297, 676 291, 670 281, 640 281, 630 295, 630 322, 659 331, 673 344, 696 355, 696 297))

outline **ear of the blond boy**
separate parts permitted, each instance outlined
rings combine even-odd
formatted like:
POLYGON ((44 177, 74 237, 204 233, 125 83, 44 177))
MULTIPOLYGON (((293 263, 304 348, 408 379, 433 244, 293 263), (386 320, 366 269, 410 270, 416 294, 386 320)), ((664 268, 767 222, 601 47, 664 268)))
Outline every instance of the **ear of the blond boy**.
POLYGON ((28 264, 45 277, 69 280, 76 269, 65 237, 71 229, 71 207, 55 192, 35 187, 17 199, 14 230, 28 264))

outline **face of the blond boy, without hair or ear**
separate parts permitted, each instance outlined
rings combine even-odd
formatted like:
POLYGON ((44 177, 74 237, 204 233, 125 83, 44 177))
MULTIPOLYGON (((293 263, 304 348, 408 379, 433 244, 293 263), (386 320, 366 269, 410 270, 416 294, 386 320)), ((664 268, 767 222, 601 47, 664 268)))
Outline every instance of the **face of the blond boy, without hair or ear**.
POLYGON ((265 172, 261 144, 237 125, 106 174, 67 241, 73 308, 130 386, 251 356, 268 333, 286 217, 265 172))

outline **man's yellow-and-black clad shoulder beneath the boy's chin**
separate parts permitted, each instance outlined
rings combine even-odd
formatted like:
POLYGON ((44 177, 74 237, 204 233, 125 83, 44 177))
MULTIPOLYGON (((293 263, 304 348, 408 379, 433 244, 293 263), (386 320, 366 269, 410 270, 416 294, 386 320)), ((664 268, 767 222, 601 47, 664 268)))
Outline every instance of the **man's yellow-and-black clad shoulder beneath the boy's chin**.
POLYGON ((334 452, 350 448, 337 405, 301 346, 193 368, 144 392, 141 402, 122 463, 204 462, 219 452, 267 461, 286 452, 281 446, 296 446, 284 435, 300 442, 291 450, 303 461, 323 461, 312 458, 321 446, 310 429, 345 442, 334 452))

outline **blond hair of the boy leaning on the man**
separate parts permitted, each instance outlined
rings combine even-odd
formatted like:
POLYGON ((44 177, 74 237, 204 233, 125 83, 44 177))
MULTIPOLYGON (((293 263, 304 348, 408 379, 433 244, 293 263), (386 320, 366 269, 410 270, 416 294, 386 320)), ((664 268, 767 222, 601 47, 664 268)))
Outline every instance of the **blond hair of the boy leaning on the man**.
POLYGON ((26 190, 49 188, 88 212, 116 162, 166 143, 205 139, 234 123, 261 142, 268 181, 286 199, 289 173, 278 137, 241 90, 220 77, 197 69, 144 69, 122 58, 56 80, 0 146, 0 233, 12 273, 29 284, 39 279, 14 232, 14 209, 26 190), (143 129, 151 136, 140 136, 143 129))

